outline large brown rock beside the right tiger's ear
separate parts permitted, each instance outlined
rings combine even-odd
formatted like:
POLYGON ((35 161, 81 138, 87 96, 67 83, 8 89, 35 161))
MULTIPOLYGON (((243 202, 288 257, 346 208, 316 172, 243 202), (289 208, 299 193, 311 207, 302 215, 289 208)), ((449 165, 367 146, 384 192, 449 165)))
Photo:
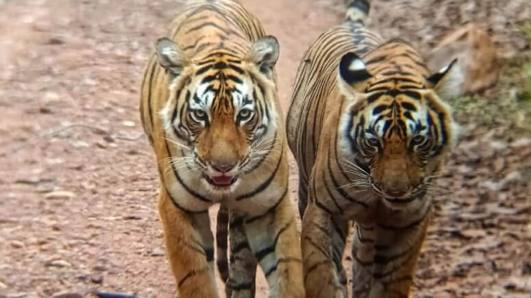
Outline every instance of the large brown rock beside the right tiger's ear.
POLYGON ((436 71, 455 58, 465 76, 462 92, 480 92, 496 84, 502 63, 489 34, 477 25, 469 23, 443 38, 430 53, 428 66, 436 71))

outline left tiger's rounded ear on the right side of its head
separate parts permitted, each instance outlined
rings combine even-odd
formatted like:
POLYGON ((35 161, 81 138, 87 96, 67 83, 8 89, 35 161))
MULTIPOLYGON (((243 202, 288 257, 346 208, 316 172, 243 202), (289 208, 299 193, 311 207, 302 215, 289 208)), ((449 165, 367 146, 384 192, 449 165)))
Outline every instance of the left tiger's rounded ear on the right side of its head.
POLYGON ((256 40, 247 53, 247 60, 258 66, 262 73, 269 73, 277 63, 280 46, 274 36, 265 36, 256 40))

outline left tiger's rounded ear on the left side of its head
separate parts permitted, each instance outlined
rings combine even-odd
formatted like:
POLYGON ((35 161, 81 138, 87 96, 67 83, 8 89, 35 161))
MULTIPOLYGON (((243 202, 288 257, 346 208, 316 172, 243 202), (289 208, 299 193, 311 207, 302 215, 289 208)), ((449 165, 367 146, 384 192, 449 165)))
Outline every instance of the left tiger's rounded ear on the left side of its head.
POLYGON ((169 38, 159 38, 155 48, 158 63, 172 75, 179 75, 189 63, 181 47, 169 38))

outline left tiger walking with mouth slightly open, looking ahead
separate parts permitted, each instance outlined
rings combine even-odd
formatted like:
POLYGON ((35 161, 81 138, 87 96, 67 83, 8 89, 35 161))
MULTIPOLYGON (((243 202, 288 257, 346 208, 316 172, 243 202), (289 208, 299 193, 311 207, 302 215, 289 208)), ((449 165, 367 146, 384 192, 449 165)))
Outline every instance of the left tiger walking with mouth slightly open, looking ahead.
POLYGON ((227 297, 254 297, 258 264, 269 297, 304 297, 279 52, 240 3, 196 0, 180 8, 147 62, 139 110, 156 157, 158 212, 179 297, 219 297, 208 213, 215 204, 228 229, 217 241, 230 243, 231 262, 220 266, 227 297))

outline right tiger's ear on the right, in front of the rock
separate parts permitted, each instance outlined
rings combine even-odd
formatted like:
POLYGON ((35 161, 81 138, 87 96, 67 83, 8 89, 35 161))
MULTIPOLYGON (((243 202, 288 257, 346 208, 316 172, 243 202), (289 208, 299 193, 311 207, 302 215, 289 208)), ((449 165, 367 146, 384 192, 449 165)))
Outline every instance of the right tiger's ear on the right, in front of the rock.
POLYGON ((428 88, 433 89, 439 97, 447 99, 461 93, 461 84, 465 79, 457 59, 444 66, 440 71, 426 79, 428 88))

